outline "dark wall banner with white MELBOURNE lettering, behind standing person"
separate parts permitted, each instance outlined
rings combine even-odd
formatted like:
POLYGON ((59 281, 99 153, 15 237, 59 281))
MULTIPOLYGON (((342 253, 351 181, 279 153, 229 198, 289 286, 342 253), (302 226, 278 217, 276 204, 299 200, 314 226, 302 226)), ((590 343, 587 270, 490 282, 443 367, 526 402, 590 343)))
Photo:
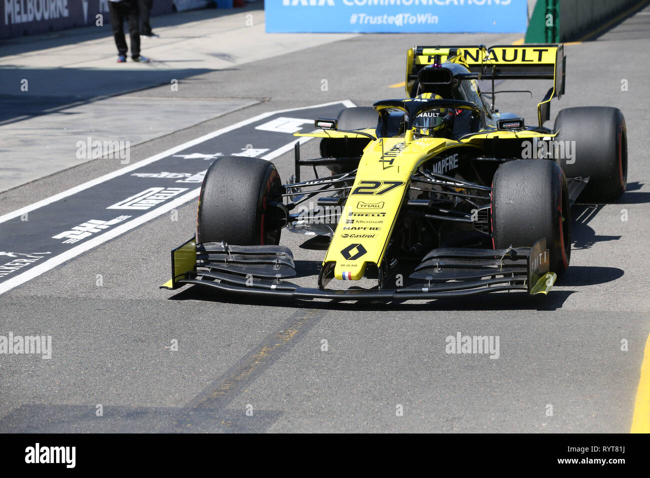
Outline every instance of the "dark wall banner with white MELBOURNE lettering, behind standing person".
MULTIPOLYGON (((173 5, 173 0, 155 0, 151 15, 172 13, 173 5)), ((0 38, 109 25, 109 0, 0 0, 0 19, 0 38)))

